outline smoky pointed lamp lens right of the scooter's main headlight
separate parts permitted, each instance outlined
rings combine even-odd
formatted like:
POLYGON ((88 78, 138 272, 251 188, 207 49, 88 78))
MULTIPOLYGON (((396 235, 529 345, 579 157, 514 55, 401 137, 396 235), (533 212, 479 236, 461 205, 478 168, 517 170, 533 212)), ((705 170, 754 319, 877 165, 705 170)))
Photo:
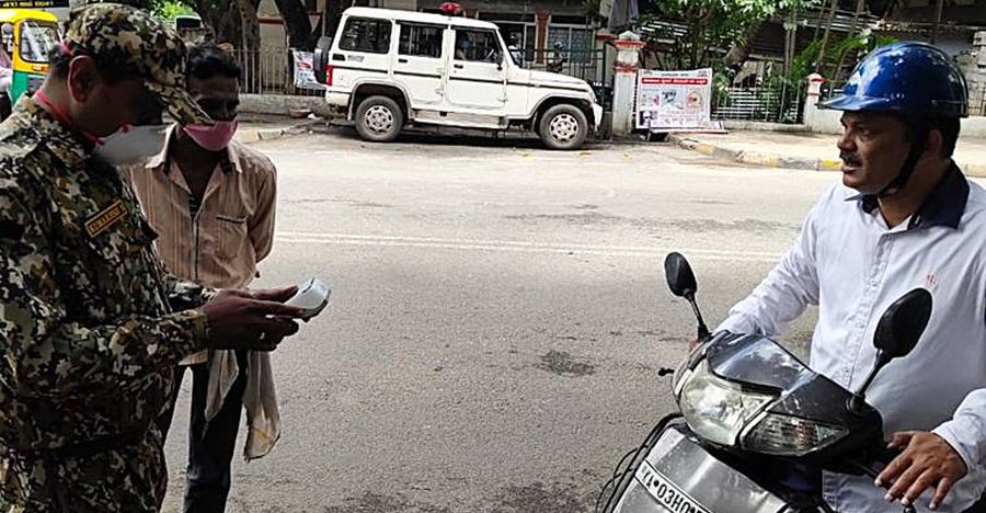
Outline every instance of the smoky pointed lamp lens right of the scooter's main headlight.
POLYGON ((804 456, 825 448, 848 432, 798 417, 768 413, 743 438, 743 448, 775 456, 804 456))

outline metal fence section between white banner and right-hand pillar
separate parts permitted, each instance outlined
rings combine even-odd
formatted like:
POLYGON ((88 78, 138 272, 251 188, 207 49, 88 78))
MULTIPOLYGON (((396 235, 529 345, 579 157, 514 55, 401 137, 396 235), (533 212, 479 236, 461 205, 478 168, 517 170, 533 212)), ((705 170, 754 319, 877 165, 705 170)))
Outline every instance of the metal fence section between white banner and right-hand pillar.
POLYGON ((724 88, 713 92, 713 119, 801 123, 805 88, 780 84, 760 88, 724 88))

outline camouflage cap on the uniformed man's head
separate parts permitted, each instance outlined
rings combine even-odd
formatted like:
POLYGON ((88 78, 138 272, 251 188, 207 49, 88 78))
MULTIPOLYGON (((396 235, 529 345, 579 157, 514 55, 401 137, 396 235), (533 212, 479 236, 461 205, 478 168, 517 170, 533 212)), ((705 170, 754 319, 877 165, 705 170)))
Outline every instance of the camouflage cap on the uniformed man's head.
POLYGON ((71 52, 144 79, 181 124, 210 124, 185 89, 185 43, 150 14, 121 3, 89 3, 71 12, 65 33, 71 52))

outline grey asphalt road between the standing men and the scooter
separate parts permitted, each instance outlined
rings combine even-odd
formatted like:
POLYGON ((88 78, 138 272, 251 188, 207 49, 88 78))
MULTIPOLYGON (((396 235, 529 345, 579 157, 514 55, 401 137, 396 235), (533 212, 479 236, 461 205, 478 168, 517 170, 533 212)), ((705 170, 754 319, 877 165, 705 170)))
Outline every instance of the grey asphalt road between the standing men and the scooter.
MULTIPOLYGON (((284 436, 237 458, 228 511, 591 511, 672 410, 657 369, 695 332, 664 255, 691 260, 714 324, 838 180, 668 146, 454 142, 255 146, 280 194, 259 284, 318 276, 333 296, 274 355, 284 436)), ((787 340, 803 350, 811 324, 787 340)), ((184 486, 190 390, 165 511, 184 486)))

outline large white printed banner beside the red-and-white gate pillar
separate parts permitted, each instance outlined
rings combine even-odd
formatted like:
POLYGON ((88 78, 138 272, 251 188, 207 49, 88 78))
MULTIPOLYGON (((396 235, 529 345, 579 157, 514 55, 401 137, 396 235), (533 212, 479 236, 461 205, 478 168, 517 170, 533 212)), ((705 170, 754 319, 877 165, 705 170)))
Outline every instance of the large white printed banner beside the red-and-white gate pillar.
POLYGON ((640 71, 637 128, 652 132, 706 130, 712 125, 712 69, 640 71))

